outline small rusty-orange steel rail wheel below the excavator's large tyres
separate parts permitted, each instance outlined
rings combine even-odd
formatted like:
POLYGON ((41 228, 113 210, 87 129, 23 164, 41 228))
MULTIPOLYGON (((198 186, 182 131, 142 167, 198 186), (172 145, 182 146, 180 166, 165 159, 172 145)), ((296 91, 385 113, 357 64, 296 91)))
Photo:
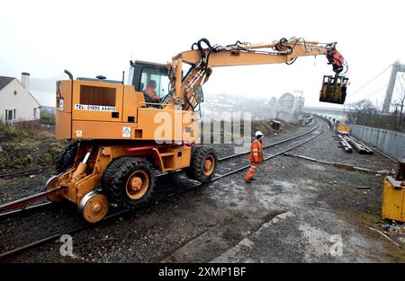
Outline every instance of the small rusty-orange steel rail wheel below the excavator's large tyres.
POLYGON ((85 221, 97 223, 108 213, 109 202, 106 196, 93 190, 80 200, 79 212, 85 221))

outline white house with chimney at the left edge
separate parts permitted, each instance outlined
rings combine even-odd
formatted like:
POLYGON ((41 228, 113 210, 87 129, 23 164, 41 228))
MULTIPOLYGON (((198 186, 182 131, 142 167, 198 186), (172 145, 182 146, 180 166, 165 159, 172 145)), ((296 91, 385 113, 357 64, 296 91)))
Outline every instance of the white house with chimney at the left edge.
POLYGON ((30 93, 30 74, 23 72, 21 82, 0 76, 0 119, 6 122, 40 122, 40 103, 30 93))

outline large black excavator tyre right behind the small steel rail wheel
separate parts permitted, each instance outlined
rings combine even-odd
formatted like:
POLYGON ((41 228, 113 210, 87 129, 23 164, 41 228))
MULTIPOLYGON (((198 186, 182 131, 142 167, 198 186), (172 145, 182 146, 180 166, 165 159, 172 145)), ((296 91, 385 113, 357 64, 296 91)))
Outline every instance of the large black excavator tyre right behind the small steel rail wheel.
POLYGON ((148 200, 156 186, 153 165, 134 156, 121 156, 110 162, 103 172, 101 188, 111 203, 120 206, 137 206, 148 200), (144 171, 148 175, 148 187, 141 198, 130 198, 126 192, 130 176, 135 171, 144 171))

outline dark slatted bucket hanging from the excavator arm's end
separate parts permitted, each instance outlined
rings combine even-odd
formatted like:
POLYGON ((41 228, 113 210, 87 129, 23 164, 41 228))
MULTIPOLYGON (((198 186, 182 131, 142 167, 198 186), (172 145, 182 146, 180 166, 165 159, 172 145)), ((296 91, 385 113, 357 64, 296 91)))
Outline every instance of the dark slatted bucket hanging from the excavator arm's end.
POLYGON ((320 101, 343 104, 346 100, 348 78, 339 75, 324 75, 320 101))

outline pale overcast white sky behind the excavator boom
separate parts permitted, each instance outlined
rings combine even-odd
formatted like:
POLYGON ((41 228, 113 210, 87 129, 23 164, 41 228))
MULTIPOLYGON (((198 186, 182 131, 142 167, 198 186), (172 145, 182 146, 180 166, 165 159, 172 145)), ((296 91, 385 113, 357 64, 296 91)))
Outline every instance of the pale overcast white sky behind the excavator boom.
MULTIPOLYGON (((401 0, 6 1, 0 10, 0 75, 65 78, 67 69, 75 77, 121 80, 130 59, 166 63, 201 38, 229 45, 297 36, 338 42, 349 66, 347 102, 382 103, 389 66, 405 63, 403 11, 401 0)), ((318 101, 331 68, 325 56, 299 57, 292 66, 218 67, 203 89, 268 100, 302 90, 307 106, 333 107, 318 101)))

